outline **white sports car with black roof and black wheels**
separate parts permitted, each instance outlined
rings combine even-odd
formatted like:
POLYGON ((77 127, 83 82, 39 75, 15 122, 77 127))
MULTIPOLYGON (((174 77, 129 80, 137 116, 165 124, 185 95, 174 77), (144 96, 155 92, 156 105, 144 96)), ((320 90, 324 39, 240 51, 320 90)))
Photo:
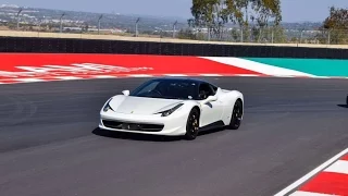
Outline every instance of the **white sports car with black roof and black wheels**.
POLYGON ((195 139, 202 130, 237 130, 243 120, 240 91, 221 89, 200 79, 153 78, 132 93, 122 93, 102 107, 101 130, 195 139))

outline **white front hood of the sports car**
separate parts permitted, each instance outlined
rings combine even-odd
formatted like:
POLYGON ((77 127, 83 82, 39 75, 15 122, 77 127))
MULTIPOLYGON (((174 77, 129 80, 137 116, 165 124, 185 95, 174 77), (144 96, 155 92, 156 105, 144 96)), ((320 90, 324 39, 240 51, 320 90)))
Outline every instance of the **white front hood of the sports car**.
POLYGON ((153 114, 175 107, 183 100, 158 99, 147 97, 115 96, 109 102, 110 107, 119 113, 153 114))

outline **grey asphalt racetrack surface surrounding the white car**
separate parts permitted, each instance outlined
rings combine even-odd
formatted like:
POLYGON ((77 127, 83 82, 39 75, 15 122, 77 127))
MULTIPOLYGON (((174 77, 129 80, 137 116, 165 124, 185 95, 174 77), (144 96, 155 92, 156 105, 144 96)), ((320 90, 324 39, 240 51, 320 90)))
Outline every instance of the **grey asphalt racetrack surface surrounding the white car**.
POLYGON ((147 79, 0 85, 0 195, 270 196, 348 147, 345 79, 206 77, 246 113, 196 140, 96 130, 109 97, 147 79))

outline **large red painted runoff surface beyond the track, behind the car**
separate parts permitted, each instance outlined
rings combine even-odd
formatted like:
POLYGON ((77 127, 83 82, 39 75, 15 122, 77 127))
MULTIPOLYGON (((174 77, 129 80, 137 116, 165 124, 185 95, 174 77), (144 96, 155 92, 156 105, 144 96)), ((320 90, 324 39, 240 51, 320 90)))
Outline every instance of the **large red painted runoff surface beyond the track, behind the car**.
MULTIPOLYGON (((233 73, 233 74, 260 74, 237 66, 225 65, 219 62, 200 59, 197 57, 175 56, 126 56, 126 54, 33 54, 10 53, 0 54, 3 71, 22 71, 18 65, 71 65, 74 63, 96 63, 122 66, 126 69, 153 68, 153 70, 132 71, 133 74, 178 74, 197 73, 233 73)), ((120 72, 119 72, 120 73, 120 72)))

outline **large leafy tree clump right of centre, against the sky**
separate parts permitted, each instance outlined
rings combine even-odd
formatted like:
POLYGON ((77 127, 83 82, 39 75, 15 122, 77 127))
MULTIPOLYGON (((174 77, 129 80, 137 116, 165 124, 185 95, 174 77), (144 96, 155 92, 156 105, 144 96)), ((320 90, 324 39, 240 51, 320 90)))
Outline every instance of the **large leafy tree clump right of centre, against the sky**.
POLYGON ((192 0, 191 14, 192 19, 188 20, 191 27, 208 27, 217 36, 226 23, 247 29, 251 20, 257 22, 259 30, 271 19, 274 25, 282 21, 281 0, 192 0), (254 14, 249 16, 248 9, 254 14))

